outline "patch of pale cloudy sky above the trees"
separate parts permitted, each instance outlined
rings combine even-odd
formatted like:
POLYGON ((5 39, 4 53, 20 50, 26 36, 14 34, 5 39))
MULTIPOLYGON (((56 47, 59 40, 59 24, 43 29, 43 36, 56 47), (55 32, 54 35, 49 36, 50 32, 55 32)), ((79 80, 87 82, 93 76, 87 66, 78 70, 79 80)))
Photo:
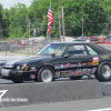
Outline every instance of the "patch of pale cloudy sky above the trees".
POLYGON ((32 0, 0 0, 0 3, 3 6, 3 8, 10 9, 10 7, 13 7, 18 2, 24 3, 27 7, 29 7, 31 1, 32 0))

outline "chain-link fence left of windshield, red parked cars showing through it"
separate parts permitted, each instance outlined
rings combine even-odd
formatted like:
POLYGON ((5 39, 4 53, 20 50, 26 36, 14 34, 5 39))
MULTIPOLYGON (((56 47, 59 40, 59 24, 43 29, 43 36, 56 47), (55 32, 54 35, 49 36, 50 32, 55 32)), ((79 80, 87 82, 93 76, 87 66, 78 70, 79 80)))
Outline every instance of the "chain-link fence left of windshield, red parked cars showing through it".
POLYGON ((18 39, 13 39, 10 42, 8 42, 7 40, 3 40, 0 42, 0 52, 34 54, 46 44, 48 44, 48 40, 46 38, 39 39, 39 40, 38 38, 31 38, 29 40, 18 38, 18 39))

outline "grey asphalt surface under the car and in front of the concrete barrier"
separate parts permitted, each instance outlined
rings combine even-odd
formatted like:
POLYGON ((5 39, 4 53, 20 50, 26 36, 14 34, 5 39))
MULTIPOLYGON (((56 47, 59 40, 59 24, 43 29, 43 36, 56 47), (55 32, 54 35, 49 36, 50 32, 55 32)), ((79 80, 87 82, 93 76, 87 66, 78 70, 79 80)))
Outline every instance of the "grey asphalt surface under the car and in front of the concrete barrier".
MULTIPOLYGON (((87 80, 88 77, 84 77, 82 80, 87 80)), ((91 78, 94 80, 94 77, 91 78)), ((58 81, 71 81, 69 78, 57 79, 58 81)), ((24 81, 24 83, 33 83, 34 81, 24 81)), ((111 82, 107 82, 111 83, 111 82)), ((0 80, 0 84, 13 84, 10 80, 0 80)), ((111 108, 111 97, 104 95, 101 99, 90 99, 90 100, 75 100, 69 102, 57 102, 57 103, 40 103, 40 104, 30 104, 22 107, 11 107, 11 108, 0 108, 0 111, 90 111, 97 109, 108 109, 111 108)), ((111 111, 111 110, 99 110, 99 111, 111 111)))

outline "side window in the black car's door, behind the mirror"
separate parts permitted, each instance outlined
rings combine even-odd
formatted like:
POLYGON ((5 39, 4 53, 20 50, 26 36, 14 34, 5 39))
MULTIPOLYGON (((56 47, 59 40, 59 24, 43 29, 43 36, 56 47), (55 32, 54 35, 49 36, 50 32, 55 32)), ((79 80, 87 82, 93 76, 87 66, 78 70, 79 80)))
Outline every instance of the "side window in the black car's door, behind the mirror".
POLYGON ((72 56, 87 56, 87 51, 84 46, 70 46, 65 52, 65 54, 72 56))

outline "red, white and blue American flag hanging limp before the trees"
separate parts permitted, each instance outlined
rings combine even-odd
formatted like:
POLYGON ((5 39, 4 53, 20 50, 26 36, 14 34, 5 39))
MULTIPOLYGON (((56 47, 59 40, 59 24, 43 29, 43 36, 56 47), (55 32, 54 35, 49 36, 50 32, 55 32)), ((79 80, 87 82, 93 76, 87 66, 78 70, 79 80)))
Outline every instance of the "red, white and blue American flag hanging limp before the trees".
POLYGON ((50 4, 49 4, 49 10, 48 10, 48 14, 47 14, 48 20, 48 33, 50 34, 50 30, 51 30, 51 23, 52 23, 52 11, 51 11, 51 0, 50 0, 50 4))

